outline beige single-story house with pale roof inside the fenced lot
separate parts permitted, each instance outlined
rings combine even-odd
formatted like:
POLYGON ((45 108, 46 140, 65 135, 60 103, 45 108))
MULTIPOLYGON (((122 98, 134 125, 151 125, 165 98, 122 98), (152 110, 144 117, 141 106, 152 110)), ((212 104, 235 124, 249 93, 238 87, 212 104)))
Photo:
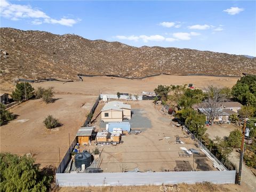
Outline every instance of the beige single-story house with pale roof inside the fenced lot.
POLYGON ((103 122, 122 122, 123 119, 131 119, 131 106, 121 101, 110 101, 101 109, 103 122))

